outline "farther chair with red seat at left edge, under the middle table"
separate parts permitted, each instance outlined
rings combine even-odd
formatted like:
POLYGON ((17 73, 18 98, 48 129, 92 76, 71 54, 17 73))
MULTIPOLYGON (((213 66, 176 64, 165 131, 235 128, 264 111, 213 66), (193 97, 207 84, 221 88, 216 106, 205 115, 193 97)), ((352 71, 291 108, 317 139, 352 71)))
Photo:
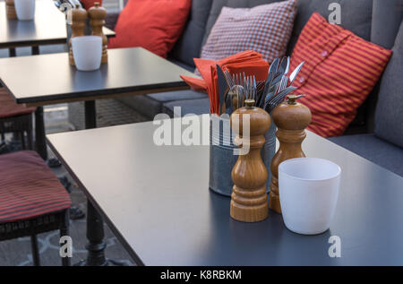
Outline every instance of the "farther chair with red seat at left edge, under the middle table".
POLYGON ((0 133, 20 133, 22 149, 27 135, 28 149, 32 149, 32 113, 36 108, 25 108, 15 103, 4 88, 0 88, 0 133))

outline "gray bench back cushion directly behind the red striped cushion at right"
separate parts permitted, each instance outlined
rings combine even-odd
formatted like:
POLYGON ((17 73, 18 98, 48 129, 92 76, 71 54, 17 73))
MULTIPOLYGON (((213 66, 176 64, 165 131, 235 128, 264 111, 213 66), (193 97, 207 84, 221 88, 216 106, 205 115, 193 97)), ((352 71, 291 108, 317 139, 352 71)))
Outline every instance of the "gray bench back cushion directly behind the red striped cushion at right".
POLYGON ((288 43, 287 54, 291 54, 296 46, 296 40, 313 12, 322 14, 328 20, 332 12, 329 11, 330 3, 339 3, 341 6, 340 26, 353 31, 360 38, 366 40, 371 38, 373 0, 298 0, 298 13, 296 13, 296 21, 288 43))

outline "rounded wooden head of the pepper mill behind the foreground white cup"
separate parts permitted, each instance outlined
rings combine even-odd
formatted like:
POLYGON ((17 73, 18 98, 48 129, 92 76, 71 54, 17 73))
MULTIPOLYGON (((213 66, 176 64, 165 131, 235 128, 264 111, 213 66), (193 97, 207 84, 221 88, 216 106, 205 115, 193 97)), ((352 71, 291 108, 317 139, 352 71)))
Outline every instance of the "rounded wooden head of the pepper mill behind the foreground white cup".
POLYGON ((302 98, 304 95, 290 95, 287 101, 279 104, 273 110, 273 121, 281 129, 284 130, 301 130, 311 123, 311 110, 303 104, 296 102, 296 99, 302 98))

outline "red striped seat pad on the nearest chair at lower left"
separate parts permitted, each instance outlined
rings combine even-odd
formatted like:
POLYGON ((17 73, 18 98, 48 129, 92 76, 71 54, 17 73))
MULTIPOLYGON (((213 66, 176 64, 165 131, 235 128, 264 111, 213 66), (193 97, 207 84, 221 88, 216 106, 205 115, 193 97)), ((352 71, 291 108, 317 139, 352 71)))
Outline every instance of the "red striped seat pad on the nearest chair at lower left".
POLYGON ((1 155, 0 168, 0 223, 70 207, 69 194, 36 152, 1 155))

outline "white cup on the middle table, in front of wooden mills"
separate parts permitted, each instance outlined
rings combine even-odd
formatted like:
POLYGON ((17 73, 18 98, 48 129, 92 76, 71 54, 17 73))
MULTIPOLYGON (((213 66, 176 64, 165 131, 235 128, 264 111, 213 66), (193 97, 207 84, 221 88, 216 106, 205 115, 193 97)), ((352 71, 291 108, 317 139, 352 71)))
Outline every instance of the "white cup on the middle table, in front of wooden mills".
POLYGON ((80 71, 99 69, 102 57, 102 38, 84 36, 72 38, 74 64, 80 71))

